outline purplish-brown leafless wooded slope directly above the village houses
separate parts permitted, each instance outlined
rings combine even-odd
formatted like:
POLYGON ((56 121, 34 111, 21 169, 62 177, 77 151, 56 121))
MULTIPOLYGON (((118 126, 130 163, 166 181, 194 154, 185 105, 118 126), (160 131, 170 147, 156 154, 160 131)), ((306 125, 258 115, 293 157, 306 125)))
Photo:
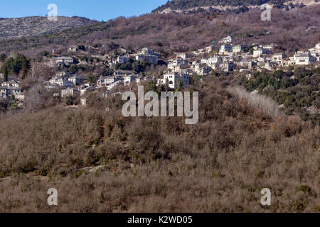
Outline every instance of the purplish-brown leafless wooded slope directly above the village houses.
POLYGON ((173 51, 202 48, 227 35, 233 35, 235 43, 276 43, 290 52, 311 48, 319 42, 319 5, 292 11, 273 9, 270 22, 261 21, 261 12, 252 9, 245 13, 152 13, 117 18, 55 34, 1 40, 0 51, 20 51, 32 56, 43 50, 65 50, 74 44, 103 44, 112 48, 115 43, 127 50, 148 46, 166 56, 173 51), (309 26, 317 29, 308 31, 309 26))

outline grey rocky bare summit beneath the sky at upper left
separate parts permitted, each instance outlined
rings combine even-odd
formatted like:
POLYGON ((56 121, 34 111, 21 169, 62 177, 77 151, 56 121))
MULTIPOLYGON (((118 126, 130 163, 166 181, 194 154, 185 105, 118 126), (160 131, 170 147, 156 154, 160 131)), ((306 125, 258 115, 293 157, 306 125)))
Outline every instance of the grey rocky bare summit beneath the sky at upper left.
POLYGON ((77 28, 94 23, 97 23, 97 21, 78 16, 71 18, 59 16, 58 21, 49 21, 46 16, 0 18, 0 39, 58 33, 68 28, 77 28))

